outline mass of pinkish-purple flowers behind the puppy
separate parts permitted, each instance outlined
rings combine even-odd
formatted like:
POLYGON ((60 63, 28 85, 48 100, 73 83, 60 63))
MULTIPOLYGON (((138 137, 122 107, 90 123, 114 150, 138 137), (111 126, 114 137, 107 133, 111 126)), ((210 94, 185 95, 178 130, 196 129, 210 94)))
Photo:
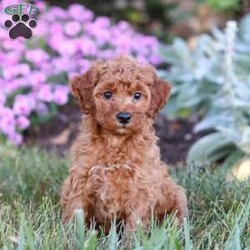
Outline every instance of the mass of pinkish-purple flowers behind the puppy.
MULTIPOLYGON (((13 4, 14 1, 11 1, 13 4)), ((8 6, 3 0, 0 9, 8 6)), ((68 9, 37 2, 38 25, 30 40, 11 40, 0 27, 0 134, 23 141, 32 115, 50 113, 50 104, 68 102, 68 78, 84 73, 96 59, 130 54, 158 65, 158 41, 133 31, 124 21, 113 24, 79 4, 68 9)), ((0 22, 11 16, 0 13, 0 22)))

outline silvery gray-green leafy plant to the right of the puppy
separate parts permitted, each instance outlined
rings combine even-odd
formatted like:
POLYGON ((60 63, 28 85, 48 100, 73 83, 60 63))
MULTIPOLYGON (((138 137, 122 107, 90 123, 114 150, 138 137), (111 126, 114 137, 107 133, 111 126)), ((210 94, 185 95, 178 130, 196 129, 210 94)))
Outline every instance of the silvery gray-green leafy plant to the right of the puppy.
POLYGON ((189 152, 189 161, 216 161, 234 153, 235 160, 250 154, 250 15, 238 25, 230 21, 225 32, 201 35, 191 50, 176 39, 162 47, 168 71, 159 74, 173 84, 169 108, 172 117, 198 113, 196 132, 214 131, 189 152))

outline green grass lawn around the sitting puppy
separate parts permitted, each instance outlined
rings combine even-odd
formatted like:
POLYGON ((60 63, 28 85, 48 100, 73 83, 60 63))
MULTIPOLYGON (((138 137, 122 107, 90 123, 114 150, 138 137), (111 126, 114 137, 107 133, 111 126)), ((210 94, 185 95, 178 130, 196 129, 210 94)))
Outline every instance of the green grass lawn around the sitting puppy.
MULTIPOLYGON (((59 193, 69 160, 40 149, 0 153, 0 249, 126 249, 112 228, 108 236, 84 227, 83 214, 63 225, 59 193)), ((173 168, 187 189, 189 221, 173 217, 148 231, 138 228, 132 249, 250 249, 250 182, 226 182, 223 169, 173 168)))

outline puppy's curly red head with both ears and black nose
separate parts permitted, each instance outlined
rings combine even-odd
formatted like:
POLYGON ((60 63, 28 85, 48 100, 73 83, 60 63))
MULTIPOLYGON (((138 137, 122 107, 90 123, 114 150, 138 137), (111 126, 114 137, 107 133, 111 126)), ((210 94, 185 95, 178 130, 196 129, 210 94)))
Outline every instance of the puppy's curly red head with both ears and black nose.
POLYGON ((72 93, 84 113, 106 130, 138 131, 164 106, 170 86, 158 79, 152 66, 130 57, 98 61, 71 80, 72 93))

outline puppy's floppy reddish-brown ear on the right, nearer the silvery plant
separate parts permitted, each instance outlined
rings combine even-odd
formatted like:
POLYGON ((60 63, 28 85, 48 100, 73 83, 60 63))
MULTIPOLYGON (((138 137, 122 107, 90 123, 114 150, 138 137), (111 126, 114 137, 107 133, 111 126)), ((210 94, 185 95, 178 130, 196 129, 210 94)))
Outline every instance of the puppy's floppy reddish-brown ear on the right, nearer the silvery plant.
POLYGON ((149 117, 153 118, 165 105, 170 92, 170 84, 167 81, 156 79, 151 90, 151 102, 148 109, 149 117))

